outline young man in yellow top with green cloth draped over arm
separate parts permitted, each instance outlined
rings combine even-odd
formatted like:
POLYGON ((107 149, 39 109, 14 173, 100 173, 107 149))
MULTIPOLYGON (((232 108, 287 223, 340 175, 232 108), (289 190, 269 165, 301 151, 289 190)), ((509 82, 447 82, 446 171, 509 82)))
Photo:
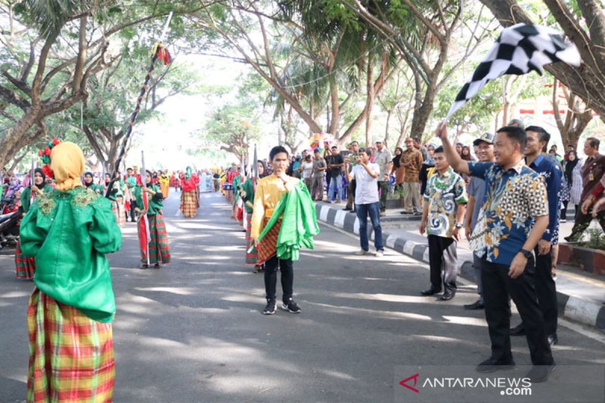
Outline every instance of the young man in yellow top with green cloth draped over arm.
POLYGON ((299 259, 301 247, 313 249, 313 236, 319 233, 315 206, 307 187, 299 179, 286 175, 287 150, 273 147, 269 158, 273 173, 258 181, 250 230, 250 242, 258 251, 258 264, 265 263, 267 306, 263 314, 275 314, 278 267, 283 289, 281 308, 299 314, 301 309, 292 299, 293 262, 299 259))

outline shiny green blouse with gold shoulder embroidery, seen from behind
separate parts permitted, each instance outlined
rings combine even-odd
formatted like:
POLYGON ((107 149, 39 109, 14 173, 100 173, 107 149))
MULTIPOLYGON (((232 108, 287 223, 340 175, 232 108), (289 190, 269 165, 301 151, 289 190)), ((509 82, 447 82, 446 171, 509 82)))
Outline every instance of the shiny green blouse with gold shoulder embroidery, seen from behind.
POLYGON ((116 312, 106 253, 122 246, 111 203, 85 187, 45 193, 21 221, 21 250, 36 258, 34 283, 100 322, 116 312))

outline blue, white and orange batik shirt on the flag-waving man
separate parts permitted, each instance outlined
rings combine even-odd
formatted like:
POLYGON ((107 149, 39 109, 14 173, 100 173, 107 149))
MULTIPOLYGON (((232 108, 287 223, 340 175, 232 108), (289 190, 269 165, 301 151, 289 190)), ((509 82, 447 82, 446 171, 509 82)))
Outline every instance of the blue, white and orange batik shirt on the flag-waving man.
POLYGON ((496 163, 468 163, 472 176, 485 179, 485 201, 469 247, 488 262, 510 265, 522 249, 534 217, 548 215, 543 179, 520 160, 508 170, 496 163))

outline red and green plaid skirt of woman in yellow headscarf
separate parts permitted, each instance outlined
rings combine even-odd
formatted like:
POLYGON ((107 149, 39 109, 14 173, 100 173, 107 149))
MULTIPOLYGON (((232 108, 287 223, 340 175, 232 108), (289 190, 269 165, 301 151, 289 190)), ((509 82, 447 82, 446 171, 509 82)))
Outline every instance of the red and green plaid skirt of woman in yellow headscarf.
POLYGON ((27 309, 27 401, 110 403, 116 363, 111 323, 34 289, 27 309))

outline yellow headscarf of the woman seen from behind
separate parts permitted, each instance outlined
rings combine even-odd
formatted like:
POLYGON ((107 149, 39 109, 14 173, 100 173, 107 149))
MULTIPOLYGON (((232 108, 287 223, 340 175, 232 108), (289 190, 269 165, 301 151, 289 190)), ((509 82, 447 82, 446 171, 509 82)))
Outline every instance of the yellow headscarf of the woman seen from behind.
POLYGON ((53 170, 57 190, 67 192, 76 186, 82 186, 80 181, 80 176, 84 173, 82 150, 71 141, 57 144, 50 153, 50 169, 53 170))

